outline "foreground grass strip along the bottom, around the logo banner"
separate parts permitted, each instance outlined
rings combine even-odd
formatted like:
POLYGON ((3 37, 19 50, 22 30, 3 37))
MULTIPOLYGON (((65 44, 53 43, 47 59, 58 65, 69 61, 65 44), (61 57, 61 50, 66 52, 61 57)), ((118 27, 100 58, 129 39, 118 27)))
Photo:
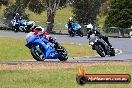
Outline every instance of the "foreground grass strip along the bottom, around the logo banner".
MULTIPOLYGON (((88 74, 130 74, 132 65, 96 65, 85 67, 88 74)), ((1 70, 1 88, 132 88, 130 84, 76 83, 76 68, 41 70, 1 70)))

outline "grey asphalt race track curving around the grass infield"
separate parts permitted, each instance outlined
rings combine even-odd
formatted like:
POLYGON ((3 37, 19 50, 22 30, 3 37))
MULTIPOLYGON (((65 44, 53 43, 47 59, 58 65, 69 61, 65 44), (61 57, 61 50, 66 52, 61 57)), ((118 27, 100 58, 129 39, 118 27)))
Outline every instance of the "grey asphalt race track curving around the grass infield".
MULTIPOLYGON (((25 33, 14 33, 14 32, 0 32, 0 37, 17 37, 17 38, 25 38, 25 33)), ((71 44, 88 44, 88 39, 86 36, 84 37, 69 37, 69 35, 52 35, 57 38, 58 42, 68 42, 71 44)), ((79 62, 100 62, 100 61, 132 61, 132 40, 129 38, 109 38, 112 46, 116 49, 116 56, 110 57, 100 57, 100 56, 84 56, 84 57, 75 57, 70 58, 66 61, 66 63, 79 63, 79 62)), ((1 41, 0 41, 1 42, 1 41)), ((1 52, 1 51, 0 51, 1 52)), ((45 62, 60 62, 59 60, 45 60, 45 62)), ((43 63, 33 61, 10 61, 10 62, 0 62, 2 63, 43 63)))

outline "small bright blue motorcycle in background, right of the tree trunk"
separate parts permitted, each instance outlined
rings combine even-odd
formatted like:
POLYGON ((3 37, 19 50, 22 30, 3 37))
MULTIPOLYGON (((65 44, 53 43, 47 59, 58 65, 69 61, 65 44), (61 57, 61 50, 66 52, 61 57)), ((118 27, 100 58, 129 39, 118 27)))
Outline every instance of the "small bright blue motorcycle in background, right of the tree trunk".
MULTIPOLYGON (((68 28, 68 25, 65 25, 66 28, 68 28)), ((68 33, 71 37, 78 35, 80 37, 83 37, 83 32, 81 31, 81 25, 78 23, 72 24, 72 28, 68 30, 68 33)))

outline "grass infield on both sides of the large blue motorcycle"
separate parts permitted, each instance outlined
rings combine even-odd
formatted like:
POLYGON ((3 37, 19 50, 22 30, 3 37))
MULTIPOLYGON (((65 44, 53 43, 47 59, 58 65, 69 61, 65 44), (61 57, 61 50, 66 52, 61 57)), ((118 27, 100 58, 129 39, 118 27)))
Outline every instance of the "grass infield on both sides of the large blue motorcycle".
MULTIPOLYGON (((24 45, 25 39, 0 38, 0 61, 32 60, 30 50, 24 45)), ((62 43, 67 49, 69 57, 92 56, 96 53, 88 45, 62 43)))

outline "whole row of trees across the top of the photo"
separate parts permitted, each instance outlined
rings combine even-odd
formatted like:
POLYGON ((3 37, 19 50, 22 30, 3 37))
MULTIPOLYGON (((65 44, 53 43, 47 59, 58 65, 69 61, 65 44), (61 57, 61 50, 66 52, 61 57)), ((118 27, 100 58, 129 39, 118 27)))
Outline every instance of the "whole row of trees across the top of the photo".
MULTIPOLYGON (((36 14, 47 11, 47 31, 53 29, 56 11, 69 4, 73 8, 73 18, 81 24, 96 24, 97 15, 107 15, 104 27, 128 28, 132 25, 131 0, 0 0, 0 6, 5 5, 4 16, 12 19, 15 13, 20 13, 26 19, 25 9, 36 14)), ((69 6, 68 5, 68 6, 69 6)))

